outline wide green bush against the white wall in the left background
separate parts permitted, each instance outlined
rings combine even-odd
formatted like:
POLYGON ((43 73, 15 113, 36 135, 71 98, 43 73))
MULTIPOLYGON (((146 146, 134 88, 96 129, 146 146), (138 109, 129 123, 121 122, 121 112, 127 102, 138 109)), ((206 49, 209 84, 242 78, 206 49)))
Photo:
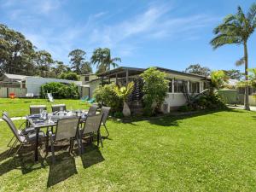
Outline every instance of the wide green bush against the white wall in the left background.
POLYGON ((41 86, 41 97, 45 93, 51 93, 54 98, 79 98, 79 90, 76 84, 61 84, 59 82, 50 82, 41 86))

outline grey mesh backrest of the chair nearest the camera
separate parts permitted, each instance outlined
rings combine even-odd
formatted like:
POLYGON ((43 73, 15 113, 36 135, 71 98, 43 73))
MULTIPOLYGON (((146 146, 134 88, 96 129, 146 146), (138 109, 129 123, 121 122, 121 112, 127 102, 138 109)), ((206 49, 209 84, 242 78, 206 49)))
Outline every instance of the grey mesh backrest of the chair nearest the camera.
POLYGON ((79 117, 59 119, 56 125, 55 141, 76 137, 79 127, 79 117))

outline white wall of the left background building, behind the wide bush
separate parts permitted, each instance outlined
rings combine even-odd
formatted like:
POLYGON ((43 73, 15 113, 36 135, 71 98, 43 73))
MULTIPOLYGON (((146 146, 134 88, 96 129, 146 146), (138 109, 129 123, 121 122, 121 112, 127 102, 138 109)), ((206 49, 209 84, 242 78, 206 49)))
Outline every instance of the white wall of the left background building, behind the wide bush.
POLYGON ((33 93, 34 96, 40 96, 40 87, 42 84, 50 83, 50 82, 60 82, 66 84, 77 84, 79 86, 82 85, 81 81, 72 81, 66 79, 50 79, 50 78, 40 78, 40 77, 26 77, 26 92, 33 93))

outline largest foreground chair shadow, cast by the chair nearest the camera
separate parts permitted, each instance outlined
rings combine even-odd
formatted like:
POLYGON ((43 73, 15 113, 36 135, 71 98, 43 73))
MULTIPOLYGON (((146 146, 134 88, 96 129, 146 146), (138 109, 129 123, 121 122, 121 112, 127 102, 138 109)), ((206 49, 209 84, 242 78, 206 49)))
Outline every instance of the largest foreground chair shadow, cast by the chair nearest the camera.
POLYGON ((55 160, 53 164, 51 157, 47 159, 49 164, 48 188, 78 173, 75 159, 68 152, 55 155, 55 160))

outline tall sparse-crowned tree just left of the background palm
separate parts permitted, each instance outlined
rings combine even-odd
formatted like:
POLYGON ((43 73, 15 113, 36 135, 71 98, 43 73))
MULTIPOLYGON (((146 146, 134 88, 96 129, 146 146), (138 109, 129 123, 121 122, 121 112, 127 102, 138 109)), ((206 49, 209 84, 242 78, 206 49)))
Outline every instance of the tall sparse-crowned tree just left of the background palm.
POLYGON ((73 49, 73 51, 68 54, 73 72, 81 74, 81 67, 85 61, 85 55, 86 52, 82 49, 73 49))

